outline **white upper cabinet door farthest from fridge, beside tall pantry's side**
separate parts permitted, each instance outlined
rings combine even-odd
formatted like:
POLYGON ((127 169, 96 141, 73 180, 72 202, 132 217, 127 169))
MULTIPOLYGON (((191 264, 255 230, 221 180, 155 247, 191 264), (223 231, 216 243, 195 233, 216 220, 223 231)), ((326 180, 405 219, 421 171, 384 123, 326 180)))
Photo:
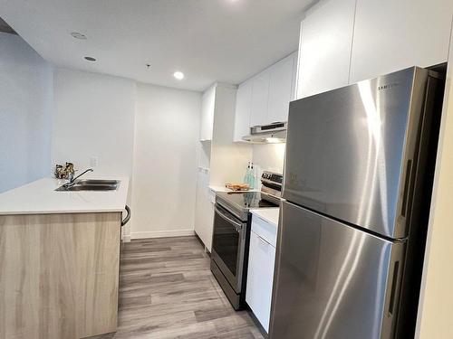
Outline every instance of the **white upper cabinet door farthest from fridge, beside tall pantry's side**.
POLYGON ((253 82, 248 80, 237 89, 234 141, 243 141, 250 134, 250 108, 252 105, 253 82))

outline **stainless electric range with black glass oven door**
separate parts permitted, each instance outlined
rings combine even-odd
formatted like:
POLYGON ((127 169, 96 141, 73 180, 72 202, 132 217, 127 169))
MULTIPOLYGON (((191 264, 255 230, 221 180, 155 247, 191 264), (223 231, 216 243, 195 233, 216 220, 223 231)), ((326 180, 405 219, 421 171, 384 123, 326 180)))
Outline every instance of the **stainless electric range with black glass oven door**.
POLYGON ((211 271, 235 309, 245 304, 250 209, 278 207, 283 176, 264 172, 261 192, 216 194, 211 271), (267 191, 267 193, 265 192, 267 191))

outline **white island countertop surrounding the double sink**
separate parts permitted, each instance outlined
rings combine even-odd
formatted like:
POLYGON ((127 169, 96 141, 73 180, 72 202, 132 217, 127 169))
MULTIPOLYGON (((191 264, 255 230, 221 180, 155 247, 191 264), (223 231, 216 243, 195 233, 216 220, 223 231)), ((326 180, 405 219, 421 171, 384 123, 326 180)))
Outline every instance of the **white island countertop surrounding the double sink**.
POLYGON ((0 215, 82 212, 121 212, 128 198, 128 177, 84 176, 84 179, 120 180, 116 191, 56 192, 66 180, 44 178, 0 193, 0 215))

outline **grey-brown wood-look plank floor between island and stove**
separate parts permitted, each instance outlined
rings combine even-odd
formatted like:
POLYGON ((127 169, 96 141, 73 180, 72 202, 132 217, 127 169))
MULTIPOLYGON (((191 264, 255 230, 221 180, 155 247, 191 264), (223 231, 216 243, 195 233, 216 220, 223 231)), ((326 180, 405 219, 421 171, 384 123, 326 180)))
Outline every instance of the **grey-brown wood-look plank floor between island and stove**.
POLYGON ((98 338, 258 339, 230 306, 195 237, 132 240, 122 249, 118 331, 98 338))

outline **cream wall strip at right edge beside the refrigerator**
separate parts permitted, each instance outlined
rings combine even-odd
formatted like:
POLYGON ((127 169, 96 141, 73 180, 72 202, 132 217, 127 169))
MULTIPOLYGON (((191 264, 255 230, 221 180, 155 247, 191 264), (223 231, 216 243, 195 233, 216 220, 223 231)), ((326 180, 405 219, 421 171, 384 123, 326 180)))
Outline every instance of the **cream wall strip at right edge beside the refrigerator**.
MULTIPOLYGON (((453 30, 452 30, 453 32, 453 30)), ((453 338, 453 35, 416 338, 453 338)))

